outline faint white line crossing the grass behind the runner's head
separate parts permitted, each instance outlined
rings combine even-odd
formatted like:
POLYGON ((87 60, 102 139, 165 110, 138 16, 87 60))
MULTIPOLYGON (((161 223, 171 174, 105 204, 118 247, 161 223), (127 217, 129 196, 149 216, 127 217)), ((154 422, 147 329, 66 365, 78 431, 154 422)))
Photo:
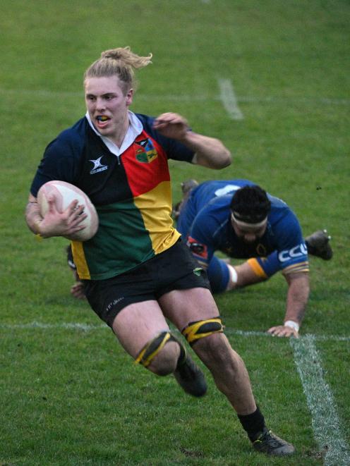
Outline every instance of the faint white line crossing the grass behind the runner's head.
MULTIPOLYGON (((69 99, 73 97, 79 97, 80 99, 84 98, 83 90, 80 91, 52 91, 52 90, 44 90, 44 89, 37 89, 37 90, 30 90, 30 89, 1 89, 1 95, 25 95, 25 96, 36 96, 36 97, 43 97, 46 99, 61 99, 67 97, 69 99)), ((174 102, 217 102, 222 101, 221 97, 210 97, 205 94, 135 94, 135 100, 145 101, 145 102, 152 102, 152 101, 159 101, 159 100, 167 100, 167 101, 174 101, 174 102)), ((325 104, 325 105, 350 105, 350 99, 342 99, 342 98, 334 98, 334 99, 327 99, 327 97, 300 97, 300 98, 289 98, 289 97, 255 97, 255 96, 236 96, 236 102, 251 102, 251 103, 259 103, 259 102, 271 102, 272 104, 284 104, 289 102, 291 104, 325 104)))

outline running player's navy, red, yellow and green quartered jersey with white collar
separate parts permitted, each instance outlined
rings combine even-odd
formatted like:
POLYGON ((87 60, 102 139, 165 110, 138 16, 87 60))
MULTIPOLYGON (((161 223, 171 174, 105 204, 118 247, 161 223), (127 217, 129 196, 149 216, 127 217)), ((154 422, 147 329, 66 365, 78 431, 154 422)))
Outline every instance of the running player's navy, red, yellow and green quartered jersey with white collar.
POLYGON ((171 219, 168 159, 191 162, 194 153, 152 129, 154 118, 129 112, 129 121, 119 151, 86 115, 47 146, 32 182, 35 197, 47 181, 63 180, 78 186, 95 204, 97 234, 84 243, 72 242, 81 279, 122 274, 180 237, 171 219))

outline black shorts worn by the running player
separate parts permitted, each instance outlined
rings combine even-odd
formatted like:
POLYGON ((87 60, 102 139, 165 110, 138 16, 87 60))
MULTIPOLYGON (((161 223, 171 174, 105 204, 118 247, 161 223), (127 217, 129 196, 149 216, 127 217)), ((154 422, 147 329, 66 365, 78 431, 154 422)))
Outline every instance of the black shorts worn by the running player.
POLYGON ((110 327, 116 314, 134 302, 158 300, 172 290, 210 289, 207 273, 181 241, 125 274, 83 283, 90 306, 110 327))

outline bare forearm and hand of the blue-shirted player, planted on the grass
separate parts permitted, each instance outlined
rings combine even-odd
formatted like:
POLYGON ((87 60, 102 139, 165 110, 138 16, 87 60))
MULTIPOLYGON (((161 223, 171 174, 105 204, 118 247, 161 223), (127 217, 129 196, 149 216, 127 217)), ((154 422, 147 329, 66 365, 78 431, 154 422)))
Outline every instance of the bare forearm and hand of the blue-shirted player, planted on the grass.
MULTIPOLYGON (((296 273, 284 276, 288 283, 288 292, 286 296, 286 314, 284 322, 294 321, 299 326, 303 320, 310 292, 308 273, 296 273)), ((296 336, 298 332, 289 326, 274 326, 268 330, 275 336, 296 336)))

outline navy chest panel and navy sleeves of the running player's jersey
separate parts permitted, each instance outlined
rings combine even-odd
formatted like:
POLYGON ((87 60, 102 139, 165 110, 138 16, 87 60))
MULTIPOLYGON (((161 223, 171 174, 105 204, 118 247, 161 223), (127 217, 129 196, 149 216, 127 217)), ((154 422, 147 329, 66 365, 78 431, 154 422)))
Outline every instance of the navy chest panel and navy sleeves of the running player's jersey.
MULTIPOLYGON (((191 162, 194 152, 176 140, 160 135, 152 128, 155 118, 135 114, 145 133, 159 142, 168 159, 191 162)), ((123 157, 122 154, 120 157, 123 157)), ((37 197, 40 187, 50 180, 62 180, 78 186, 96 205, 130 199, 131 190, 119 157, 109 152, 101 137, 81 118, 59 134, 47 146, 32 181, 30 192, 37 197), (94 170, 94 161, 99 168, 94 170), (116 187, 118 189, 116 189, 116 187)))

